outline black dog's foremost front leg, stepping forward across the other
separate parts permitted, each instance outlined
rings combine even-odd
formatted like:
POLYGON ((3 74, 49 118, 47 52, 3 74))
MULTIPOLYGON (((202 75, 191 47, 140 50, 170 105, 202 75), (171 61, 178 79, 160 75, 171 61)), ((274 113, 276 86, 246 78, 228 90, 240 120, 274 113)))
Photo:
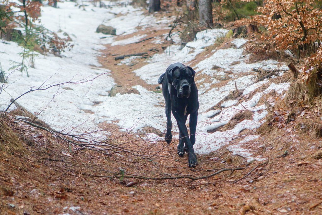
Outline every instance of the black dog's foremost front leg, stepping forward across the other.
POLYGON ((193 145, 190 142, 187 126, 185 126, 185 122, 183 120, 183 117, 180 117, 178 114, 174 114, 174 117, 177 121, 177 125, 178 125, 179 131, 182 135, 182 139, 185 142, 185 147, 188 152, 189 167, 196 167, 196 165, 198 164, 197 156, 194 153, 193 145))

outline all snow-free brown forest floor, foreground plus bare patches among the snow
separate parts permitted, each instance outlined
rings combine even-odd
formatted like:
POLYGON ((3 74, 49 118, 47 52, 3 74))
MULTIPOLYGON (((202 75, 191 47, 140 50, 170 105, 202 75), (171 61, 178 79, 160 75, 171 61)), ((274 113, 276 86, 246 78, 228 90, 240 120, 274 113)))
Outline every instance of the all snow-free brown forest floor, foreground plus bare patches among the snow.
MULTIPOLYGON (((144 34, 148 36, 142 40, 162 37, 168 31, 146 28, 120 35, 115 41, 144 34)), ((99 62, 112 71, 116 85, 141 85, 157 91, 158 85, 149 84, 134 73, 148 64, 145 58, 135 59, 135 64, 118 64, 115 57, 132 53, 153 56, 170 45, 169 41, 157 44, 149 40, 107 44, 99 62)), ((194 67, 212 51, 206 49, 188 64, 194 67)), ((203 78, 196 76, 196 82, 203 78)), ((276 80, 282 82, 281 78, 276 80)), ((223 80, 216 87, 225 83, 223 80)), ((138 139, 136 133, 119 129, 117 122, 102 122, 99 126, 112 132, 109 139, 114 145, 123 144, 126 149, 135 146, 150 150, 147 154, 156 152, 159 157, 142 158, 133 153, 107 156, 75 147, 14 118, 23 114, 12 111, 2 114, 0 119, 0 137, 7 140, 13 137, 11 144, 15 143, 14 147, 10 144, 0 147, 0 214, 322 214, 322 142, 312 133, 296 129, 315 118, 314 110, 284 126, 279 122, 268 126, 264 122, 258 130, 242 130, 239 138, 259 136, 243 147, 260 155, 262 160, 248 162, 247 157, 233 155, 223 147, 210 154, 198 154, 199 165, 195 169, 187 167, 187 155, 177 156, 177 138, 168 146, 162 140, 153 141, 150 146, 145 138, 138 139), (10 130, 12 133, 5 132, 10 130), (17 137, 20 141, 14 141, 17 137), (131 174, 124 178, 115 174, 121 172, 120 166, 131 174), (221 170, 227 171, 204 177, 221 170), (163 179, 140 179, 147 175, 163 179), (178 176, 182 179, 172 179, 178 176), (191 179, 198 177, 204 178, 191 179)))

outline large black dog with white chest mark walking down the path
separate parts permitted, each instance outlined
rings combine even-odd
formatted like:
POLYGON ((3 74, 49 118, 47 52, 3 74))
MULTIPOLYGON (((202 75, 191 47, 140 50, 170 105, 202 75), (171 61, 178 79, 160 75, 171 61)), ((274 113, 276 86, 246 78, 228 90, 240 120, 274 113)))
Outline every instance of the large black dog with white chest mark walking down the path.
POLYGON ((172 141, 172 110, 180 131, 178 155, 183 157, 185 151, 188 152, 189 167, 195 167, 198 164, 193 148, 196 142, 195 132, 199 109, 198 90, 194 83, 195 73, 191 67, 175 63, 171 64, 158 80, 159 84, 162 83, 162 93, 166 101, 166 142, 169 144, 172 141), (190 114, 190 138, 185 125, 188 114, 190 114))

